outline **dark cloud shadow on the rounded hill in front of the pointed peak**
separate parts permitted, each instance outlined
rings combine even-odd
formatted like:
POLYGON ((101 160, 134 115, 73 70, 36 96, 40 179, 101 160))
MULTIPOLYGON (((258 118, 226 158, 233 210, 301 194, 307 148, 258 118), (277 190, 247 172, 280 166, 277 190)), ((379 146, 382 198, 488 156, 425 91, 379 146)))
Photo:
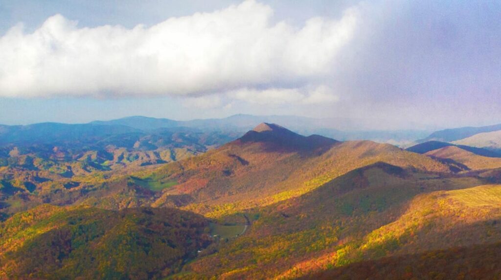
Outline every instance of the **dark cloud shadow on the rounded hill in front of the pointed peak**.
POLYGON ((432 191, 410 183, 415 180, 411 170, 384 162, 357 168, 299 197, 268 206, 268 218, 274 222, 264 232, 280 234, 333 223, 345 228, 338 236, 342 239, 353 233, 350 224, 363 220, 355 227, 366 234, 398 219, 416 195, 432 191), (376 180, 367 171, 376 171, 376 180))

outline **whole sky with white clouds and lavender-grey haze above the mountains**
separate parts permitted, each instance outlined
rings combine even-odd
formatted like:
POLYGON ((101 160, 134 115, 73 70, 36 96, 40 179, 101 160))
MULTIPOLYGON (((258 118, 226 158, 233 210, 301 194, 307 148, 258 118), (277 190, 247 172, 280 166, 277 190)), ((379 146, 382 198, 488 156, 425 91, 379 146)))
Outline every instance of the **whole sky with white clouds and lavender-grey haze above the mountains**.
POLYGON ((0 0, 0 123, 501 123, 501 3, 0 0))

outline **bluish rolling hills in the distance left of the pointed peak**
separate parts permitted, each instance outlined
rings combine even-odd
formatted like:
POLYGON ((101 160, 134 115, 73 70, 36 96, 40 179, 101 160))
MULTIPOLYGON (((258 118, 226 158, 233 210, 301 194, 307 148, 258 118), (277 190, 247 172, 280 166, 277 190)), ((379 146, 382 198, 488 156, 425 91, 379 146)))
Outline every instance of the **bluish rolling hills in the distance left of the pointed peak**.
POLYGON ((122 125, 5 126, 0 132, 0 197, 79 176, 181 160, 238 135, 182 127, 144 132, 122 125))

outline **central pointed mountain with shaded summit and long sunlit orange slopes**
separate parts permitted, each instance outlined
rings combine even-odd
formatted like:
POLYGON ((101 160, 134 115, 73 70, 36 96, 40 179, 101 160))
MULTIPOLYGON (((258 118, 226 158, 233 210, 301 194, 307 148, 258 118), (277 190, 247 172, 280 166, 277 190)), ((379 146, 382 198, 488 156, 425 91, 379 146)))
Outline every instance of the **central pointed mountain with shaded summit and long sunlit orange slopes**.
MULTIPOLYGON (((89 154, 86 159, 92 162, 94 156, 89 154)), ((13 173, 6 169, 4 174, 11 180, 3 181, 5 206, 1 211, 13 213, 28 209, 26 205, 50 202, 107 209, 176 206, 221 217, 302 195, 378 161, 431 172, 450 170, 447 164, 392 145, 306 137, 263 123, 204 155, 158 168, 96 170, 58 178, 39 170, 13 173), (25 186, 26 181, 36 183, 25 186)))

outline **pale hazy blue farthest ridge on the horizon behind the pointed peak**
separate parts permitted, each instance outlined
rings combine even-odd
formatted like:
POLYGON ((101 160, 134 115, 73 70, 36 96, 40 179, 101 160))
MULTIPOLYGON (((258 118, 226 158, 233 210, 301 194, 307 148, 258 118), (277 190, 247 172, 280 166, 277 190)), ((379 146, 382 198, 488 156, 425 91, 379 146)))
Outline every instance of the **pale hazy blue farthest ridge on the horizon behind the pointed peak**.
MULTIPOLYGON (((423 138, 430 133, 428 130, 381 129, 381 127, 377 123, 374 123, 374 121, 367 121, 363 119, 309 118, 302 116, 281 115, 255 116, 245 114, 237 114, 219 119, 194 119, 188 121, 131 116, 108 121, 96 120, 88 123, 87 125, 127 126, 144 132, 165 128, 173 130, 183 127, 186 129, 198 129, 203 132, 222 131, 224 133, 232 132, 243 135, 257 124, 263 122, 280 123, 292 131, 303 135, 318 134, 338 139, 340 141, 371 140, 379 143, 390 143, 399 146, 408 146, 410 143, 415 142, 416 139, 423 138)), ((30 125, 16 127, 29 126, 30 125)), ((11 130, 11 127, 15 126, 0 125, 0 135, 4 130, 11 130)))

